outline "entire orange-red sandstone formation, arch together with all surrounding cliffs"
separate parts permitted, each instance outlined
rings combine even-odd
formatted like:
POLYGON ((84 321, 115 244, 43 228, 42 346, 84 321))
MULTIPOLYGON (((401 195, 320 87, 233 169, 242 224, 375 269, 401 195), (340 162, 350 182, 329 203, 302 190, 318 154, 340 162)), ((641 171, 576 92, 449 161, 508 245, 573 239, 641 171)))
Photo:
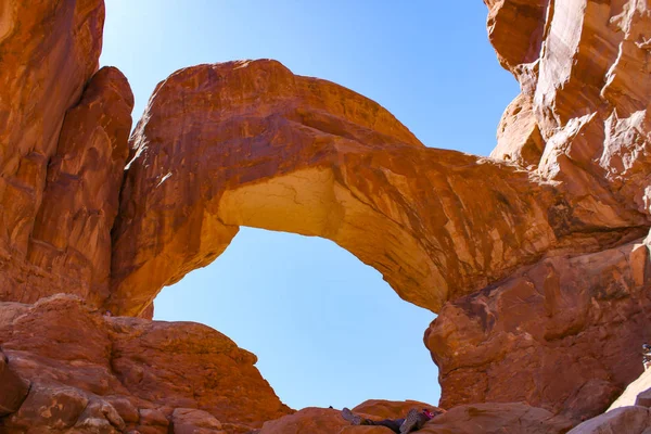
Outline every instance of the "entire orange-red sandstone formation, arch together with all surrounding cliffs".
MULTIPOLYGON (((214 330, 133 318, 240 226, 328 238, 439 314, 449 411, 423 432, 562 433, 608 408, 651 340, 651 13, 485 3, 522 89, 493 158, 268 60, 173 74, 128 140, 103 2, 0 0, 0 432, 382 430, 293 413, 214 330)), ((638 407, 577 432, 637 430, 638 407)))

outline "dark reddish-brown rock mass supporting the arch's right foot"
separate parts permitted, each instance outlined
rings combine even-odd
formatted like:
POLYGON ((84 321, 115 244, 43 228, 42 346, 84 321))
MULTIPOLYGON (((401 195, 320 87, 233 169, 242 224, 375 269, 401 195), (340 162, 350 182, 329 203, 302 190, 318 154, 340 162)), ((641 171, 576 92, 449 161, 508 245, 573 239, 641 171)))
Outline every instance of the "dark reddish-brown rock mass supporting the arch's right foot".
POLYGON ((580 419, 642 372, 650 243, 549 257, 448 303, 425 333, 445 408, 526 401, 580 419))

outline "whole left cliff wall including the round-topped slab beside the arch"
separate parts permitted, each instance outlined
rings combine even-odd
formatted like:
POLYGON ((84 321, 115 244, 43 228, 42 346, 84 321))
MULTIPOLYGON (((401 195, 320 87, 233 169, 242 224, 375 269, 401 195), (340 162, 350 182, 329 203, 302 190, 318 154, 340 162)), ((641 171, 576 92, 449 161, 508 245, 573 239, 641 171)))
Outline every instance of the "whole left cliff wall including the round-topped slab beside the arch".
POLYGON ((133 106, 117 69, 88 82, 104 3, 2 0, 0 11, 0 301, 99 303, 133 106))

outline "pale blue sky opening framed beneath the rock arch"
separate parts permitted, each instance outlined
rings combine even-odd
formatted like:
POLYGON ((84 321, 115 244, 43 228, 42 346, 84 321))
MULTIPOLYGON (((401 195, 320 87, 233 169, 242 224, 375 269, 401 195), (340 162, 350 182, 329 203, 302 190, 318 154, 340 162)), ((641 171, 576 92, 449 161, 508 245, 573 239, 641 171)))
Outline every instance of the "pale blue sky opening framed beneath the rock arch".
POLYGON ((293 408, 439 398, 422 342, 433 314, 326 239, 243 227, 208 267, 158 294, 154 319, 225 333, 293 408))

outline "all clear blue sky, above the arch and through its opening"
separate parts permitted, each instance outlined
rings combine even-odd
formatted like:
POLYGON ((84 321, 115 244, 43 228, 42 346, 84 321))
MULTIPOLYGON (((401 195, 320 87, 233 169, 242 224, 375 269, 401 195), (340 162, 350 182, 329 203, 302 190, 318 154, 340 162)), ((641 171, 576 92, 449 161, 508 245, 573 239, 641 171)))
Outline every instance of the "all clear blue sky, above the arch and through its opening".
MULTIPOLYGON (((485 21, 481 0, 106 0, 101 64, 128 77, 135 120, 178 68, 271 58, 378 101, 429 146, 487 155, 518 87, 485 21)), ((328 240, 242 228, 159 294, 155 318, 227 334, 293 408, 438 401, 422 343, 434 314, 328 240)))

